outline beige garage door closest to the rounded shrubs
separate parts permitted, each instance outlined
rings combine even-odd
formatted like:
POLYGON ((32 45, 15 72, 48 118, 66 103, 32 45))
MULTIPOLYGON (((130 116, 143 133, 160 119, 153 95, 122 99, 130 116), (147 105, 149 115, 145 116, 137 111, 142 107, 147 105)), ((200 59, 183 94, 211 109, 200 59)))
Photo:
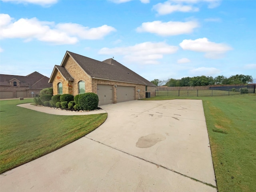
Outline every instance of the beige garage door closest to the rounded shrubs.
POLYGON ((99 97, 99 105, 106 105, 113 103, 113 86, 112 85, 98 85, 97 94, 99 97))

